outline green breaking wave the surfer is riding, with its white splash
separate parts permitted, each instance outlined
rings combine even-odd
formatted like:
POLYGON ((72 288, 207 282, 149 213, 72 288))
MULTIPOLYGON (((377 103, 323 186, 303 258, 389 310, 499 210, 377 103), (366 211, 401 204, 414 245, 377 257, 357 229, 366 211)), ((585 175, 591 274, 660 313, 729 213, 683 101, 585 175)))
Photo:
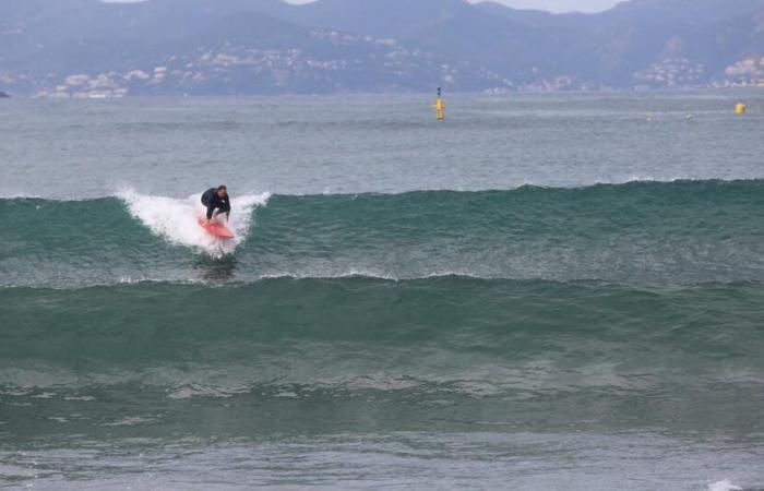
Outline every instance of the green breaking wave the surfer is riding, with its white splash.
POLYGON ((135 192, 0 200, 0 285, 351 275, 652 286, 764 280, 761 180, 252 195, 234 200, 240 239, 231 243, 196 226, 196 201, 135 192))

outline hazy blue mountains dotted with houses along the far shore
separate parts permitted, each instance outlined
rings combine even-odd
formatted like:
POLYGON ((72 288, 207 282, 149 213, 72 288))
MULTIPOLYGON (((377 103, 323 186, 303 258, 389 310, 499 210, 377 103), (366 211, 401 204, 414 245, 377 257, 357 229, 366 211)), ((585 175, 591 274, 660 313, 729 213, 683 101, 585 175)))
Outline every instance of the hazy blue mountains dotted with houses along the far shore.
POLYGON ((0 3, 0 91, 57 97, 751 85, 762 57, 764 0, 0 3))

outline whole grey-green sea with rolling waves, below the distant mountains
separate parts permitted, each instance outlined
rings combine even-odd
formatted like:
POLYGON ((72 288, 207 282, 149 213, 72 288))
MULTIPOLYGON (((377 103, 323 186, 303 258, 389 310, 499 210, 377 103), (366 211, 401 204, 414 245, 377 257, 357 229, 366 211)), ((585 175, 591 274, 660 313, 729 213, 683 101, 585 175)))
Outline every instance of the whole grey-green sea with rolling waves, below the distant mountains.
POLYGON ((0 488, 764 489, 764 92, 432 98, 0 101, 0 488))

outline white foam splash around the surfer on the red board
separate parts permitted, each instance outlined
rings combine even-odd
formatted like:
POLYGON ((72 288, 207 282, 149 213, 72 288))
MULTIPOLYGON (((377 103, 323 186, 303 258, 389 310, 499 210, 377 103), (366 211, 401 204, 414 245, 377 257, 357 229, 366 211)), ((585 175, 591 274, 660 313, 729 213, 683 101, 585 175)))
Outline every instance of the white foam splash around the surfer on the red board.
POLYGON ((252 225, 252 212, 255 207, 267 204, 271 194, 231 197, 228 227, 236 235, 232 240, 217 239, 199 226, 198 218, 204 213, 201 194, 193 194, 187 199, 174 199, 129 190, 119 193, 118 196, 128 205, 130 213, 154 235, 170 243, 190 247, 214 258, 220 258, 232 253, 243 242, 252 225))

